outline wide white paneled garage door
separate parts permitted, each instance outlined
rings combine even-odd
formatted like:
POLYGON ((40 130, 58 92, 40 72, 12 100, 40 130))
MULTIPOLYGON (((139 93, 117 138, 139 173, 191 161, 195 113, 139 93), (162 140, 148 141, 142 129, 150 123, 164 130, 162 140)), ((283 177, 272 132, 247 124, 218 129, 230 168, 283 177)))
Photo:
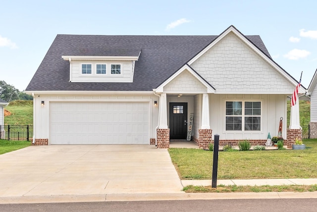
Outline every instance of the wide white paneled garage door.
POLYGON ((50 144, 149 144, 149 103, 51 102, 50 144))

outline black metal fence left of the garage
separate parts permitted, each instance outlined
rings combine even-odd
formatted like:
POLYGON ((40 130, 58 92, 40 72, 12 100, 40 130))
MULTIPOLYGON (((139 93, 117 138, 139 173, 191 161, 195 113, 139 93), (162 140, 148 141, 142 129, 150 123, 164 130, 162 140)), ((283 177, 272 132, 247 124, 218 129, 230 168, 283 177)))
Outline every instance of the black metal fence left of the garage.
POLYGON ((30 141, 33 125, 0 125, 0 139, 13 141, 30 141))

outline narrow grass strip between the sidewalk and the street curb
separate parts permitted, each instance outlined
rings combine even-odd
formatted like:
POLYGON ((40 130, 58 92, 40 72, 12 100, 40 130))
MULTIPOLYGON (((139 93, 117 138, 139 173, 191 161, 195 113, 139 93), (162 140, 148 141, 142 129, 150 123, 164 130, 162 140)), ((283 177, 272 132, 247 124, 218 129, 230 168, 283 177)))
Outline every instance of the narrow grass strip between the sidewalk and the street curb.
POLYGON ((315 185, 281 185, 281 186, 237 186, 237 185, 218 185, 217 188, 211 186, 185 186, 183 191, 186 193, 228 193, 228 192, 314 192, 317 191, 315 185))

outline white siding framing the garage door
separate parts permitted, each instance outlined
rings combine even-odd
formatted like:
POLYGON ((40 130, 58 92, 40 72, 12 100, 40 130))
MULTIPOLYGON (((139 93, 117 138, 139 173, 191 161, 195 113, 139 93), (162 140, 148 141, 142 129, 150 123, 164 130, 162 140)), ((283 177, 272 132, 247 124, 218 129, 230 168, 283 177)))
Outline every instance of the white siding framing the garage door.
MULTIPOLYGON (((50 102, 146 102, 150 107, 150 138, 156 138, 155 128, 158 125, 159 106, 154 105, 159 97, 155 95, 35 95, 33 106, 34 114, 34 132, 36 139, 46 139, 50 136, 50 102), (38 97, 39 96, 39 97, 38 97), (44 101, 45 105, 41 106, 44 101)), ((150 140, 149 140, 150 141, 150 140)), ((50 142, 50 138, 49 138, 50 142)))

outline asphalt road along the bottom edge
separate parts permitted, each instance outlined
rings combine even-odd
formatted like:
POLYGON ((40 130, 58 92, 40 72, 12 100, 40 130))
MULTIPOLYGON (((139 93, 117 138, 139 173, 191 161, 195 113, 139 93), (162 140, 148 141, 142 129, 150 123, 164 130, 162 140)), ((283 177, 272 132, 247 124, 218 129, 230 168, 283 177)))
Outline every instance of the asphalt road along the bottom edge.
POLYGON ((0 204, 0 212, 316 212, 317 199, 0 204))

